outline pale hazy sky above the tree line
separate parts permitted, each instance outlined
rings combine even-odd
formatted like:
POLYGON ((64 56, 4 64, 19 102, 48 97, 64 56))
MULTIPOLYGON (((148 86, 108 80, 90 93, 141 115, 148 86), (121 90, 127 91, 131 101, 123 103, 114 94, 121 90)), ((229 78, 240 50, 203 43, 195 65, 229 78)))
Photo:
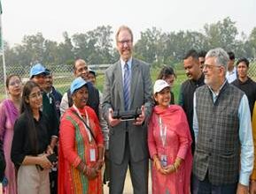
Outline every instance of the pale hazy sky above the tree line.
POLYGON ((130 26, 139 32, 156 26, 162 31, 196 30, 226 17, 237 22, 239 33, 256 26, 255 0, 2 0, 4 40, 20 43, 25 34, 63 41, 62 33, 83 33, 97 26, 130 26))

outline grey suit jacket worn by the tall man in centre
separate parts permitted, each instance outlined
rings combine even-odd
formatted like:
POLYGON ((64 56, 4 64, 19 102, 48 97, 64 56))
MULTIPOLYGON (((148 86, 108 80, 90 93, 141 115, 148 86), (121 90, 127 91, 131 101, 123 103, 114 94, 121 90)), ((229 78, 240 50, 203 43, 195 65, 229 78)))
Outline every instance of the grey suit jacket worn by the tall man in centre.
MULTIPOLYGON (((109 108, 124 111, 123 78, 120 61, 112 64, 105 71, 105 87, 103 96, 103 112, 108 121, 109 108)), ((110 160, 120 164, 125 151, 126 135, 128 134, 128 146, 133 161, 148 158, 147 146, 147 121, 151 116, 151 76, 150 67, 147 63, 132 59, 130 109, 146 108, 146 120, 142 126, 136 126, 134 121, 121 122, 110 127, 110 160), (128 131, 128 132, 126 132, 128 131)))

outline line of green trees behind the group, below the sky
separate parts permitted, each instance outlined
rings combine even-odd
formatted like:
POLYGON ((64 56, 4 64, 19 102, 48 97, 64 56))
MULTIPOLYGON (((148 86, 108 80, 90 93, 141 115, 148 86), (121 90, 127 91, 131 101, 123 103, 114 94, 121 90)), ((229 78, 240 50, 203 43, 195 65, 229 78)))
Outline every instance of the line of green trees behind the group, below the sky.
MULTIPOLYGON (((73 63, 83 58, 90 64, 113 63, 119 55, 112 40, 112 26, 97 26, 84 33, 63 33, 64 41, 47 40, 42 33, 25 35, 20 44, 10 47, 4 42, 6 66, 31 66, 40 62, 47 66, 73 63)), ((237 57, 256 58, 256 26, 251 34, 238 33, 236 22, 225 18, 206 24, 202 32, 162 32, 151 27, 141 32, 134 42, 134 56, 154 65, 175 64, 190 49, 209 50, 221 47, 237 57)))

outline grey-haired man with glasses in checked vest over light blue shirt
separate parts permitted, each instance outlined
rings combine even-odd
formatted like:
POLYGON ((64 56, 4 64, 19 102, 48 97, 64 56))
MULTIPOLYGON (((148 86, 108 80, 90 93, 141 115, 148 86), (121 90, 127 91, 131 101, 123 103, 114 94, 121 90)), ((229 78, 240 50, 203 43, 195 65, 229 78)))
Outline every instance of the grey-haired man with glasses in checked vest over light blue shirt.
POLYGON ((244 92, 225 78, 229 56, 206 54, 205 86, 194 94, 193 193, 248 193, 253 168, 252 125, 244 92))

